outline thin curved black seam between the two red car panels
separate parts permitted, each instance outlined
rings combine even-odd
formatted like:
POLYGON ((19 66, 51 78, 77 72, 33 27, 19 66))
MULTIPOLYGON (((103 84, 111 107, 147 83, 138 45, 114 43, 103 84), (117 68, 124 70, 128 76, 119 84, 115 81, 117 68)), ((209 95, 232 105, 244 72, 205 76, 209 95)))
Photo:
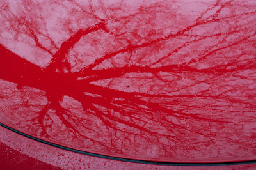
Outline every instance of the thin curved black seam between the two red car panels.
POLYGON ((67 151, 73 151, 76 153, 81 153, 81 154, 92 156, 92 157, 106 158, 106 159, 110 159, 110 160, 119 160, 119 161, 124 161, 124 162, 132 162, 132 163, 140 163, 140 164, 154 164, 154 165, 161 165, 161 166, 232 166, 232 165, 241 165, 241 164, 256 164, 256 160, 240 161, 240 162, 222 162, 222 163, 175 163, 175 162, 155 162, 155 161, 147 161, 147 160, 134 160, 134 159, 128 159, 128 158, 110 157, 110 156, 106 156, 106 155, 90 153, 87 151, 75 150, 75 149, 68 148, 65 146, 60 146, 60 145, 54 144, 54 143, 49 143, 47 141, 38 139, 31 135, 24 134, 23 132, 20 132, 19 130, 15 130, 14 128, 4 125, 3 123, 0 123, 0 125, 4 128, 7 128, 8 130, 12 130, 12 132, 23 135, 25 137, 28 137, 29 139, 33 139, 40 143, 48 144, 50 146, 54 146, 56 148, 60 148, 60 149, 67 150, 67 151))

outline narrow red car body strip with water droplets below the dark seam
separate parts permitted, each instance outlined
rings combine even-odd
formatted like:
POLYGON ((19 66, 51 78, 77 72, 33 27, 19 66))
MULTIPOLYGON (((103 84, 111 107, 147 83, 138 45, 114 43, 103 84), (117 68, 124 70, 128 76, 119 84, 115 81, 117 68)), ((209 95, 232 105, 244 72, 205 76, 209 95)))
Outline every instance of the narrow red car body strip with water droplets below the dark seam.
POLYGON ((90 157, 47 144, 0 127, 1 169, 255 169, 256 164, 233 166, 158 166, 90 157), (5 160, 5 161, 4 161, 5 160), (6 168, 4 168, 6 167, 6 168))

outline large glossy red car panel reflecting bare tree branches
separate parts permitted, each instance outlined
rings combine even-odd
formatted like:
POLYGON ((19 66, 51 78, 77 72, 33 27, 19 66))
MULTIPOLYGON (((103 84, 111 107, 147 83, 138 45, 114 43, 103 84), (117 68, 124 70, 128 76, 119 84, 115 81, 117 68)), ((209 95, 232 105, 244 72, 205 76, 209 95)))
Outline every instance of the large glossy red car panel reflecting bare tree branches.
POLYGON ((256 1, 0 6, 4 125, 120 158, 256 160, 256 1))

